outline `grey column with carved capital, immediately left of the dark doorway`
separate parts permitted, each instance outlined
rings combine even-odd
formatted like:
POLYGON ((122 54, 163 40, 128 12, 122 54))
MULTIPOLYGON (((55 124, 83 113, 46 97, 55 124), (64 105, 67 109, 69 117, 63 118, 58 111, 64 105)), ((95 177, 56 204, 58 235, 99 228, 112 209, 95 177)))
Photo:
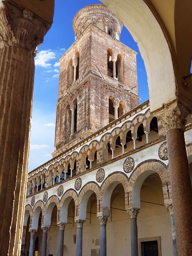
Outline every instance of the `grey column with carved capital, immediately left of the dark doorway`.
POLYGON ((139 256, 137 239, 137 215, 140 209, 130 208, 127 213, 131 219, 131 256, 139 256))

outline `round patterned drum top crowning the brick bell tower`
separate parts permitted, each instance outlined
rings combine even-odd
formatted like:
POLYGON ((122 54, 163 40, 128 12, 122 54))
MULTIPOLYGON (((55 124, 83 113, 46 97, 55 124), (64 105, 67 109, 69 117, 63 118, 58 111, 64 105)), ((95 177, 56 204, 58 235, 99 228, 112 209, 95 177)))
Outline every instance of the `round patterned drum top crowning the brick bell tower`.
POLYGON ((103 4, 87 5, 79 10, 73 19, 73 31, 76 38, 89 24, 119 40, 123 23, 103 4))

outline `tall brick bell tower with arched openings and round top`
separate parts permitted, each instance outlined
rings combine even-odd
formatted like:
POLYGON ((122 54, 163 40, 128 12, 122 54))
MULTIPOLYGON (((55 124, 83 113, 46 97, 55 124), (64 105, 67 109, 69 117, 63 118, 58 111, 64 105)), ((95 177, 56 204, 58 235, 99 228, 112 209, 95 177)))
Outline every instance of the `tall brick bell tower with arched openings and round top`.
POLYGON ((60 58, 53 156, 139 105, 137 53, 119 41, 122 26, 102 4, 76 13, 75 42, 60 58))

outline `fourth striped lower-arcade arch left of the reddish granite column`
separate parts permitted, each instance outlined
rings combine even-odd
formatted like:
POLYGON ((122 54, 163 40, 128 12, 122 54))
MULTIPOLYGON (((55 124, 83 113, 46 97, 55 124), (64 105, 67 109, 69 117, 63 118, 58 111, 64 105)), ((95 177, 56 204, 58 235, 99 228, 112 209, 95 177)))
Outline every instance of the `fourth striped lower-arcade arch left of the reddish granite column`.
POLYGON ((60 201, 60 205, 61 205, 60 222, 67 223, 68 206, 69 206, 71 200, 74 200, 75 208, 78 207, 78 197, 77 197, 76 192, 72 189, 66 191, 65 194, 61 198, 61 201, 60 201))

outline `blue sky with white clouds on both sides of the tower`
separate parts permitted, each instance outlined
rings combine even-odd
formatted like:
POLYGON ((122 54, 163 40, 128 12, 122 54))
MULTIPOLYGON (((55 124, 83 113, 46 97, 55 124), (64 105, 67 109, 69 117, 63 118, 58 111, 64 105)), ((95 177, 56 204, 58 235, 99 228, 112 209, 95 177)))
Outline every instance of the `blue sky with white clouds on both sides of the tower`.
MULTIPOLYGON (((101 4, 100 1, 71 0, 55 1, 55 12, 51 29, 39 46, 35 58, 35 82, 31 126, 31 140, 28 171, 52 159, 54 151, 55 119, 59 84, 59 62, 66 49, 75 41, 72 28, 73 18, 81 8, 89 4, 101 4)), ((140 103, 148 100, 147 75, 137 43, 128 30, 123 27, 120 41, 137 55, 137 76, 140 103)))

